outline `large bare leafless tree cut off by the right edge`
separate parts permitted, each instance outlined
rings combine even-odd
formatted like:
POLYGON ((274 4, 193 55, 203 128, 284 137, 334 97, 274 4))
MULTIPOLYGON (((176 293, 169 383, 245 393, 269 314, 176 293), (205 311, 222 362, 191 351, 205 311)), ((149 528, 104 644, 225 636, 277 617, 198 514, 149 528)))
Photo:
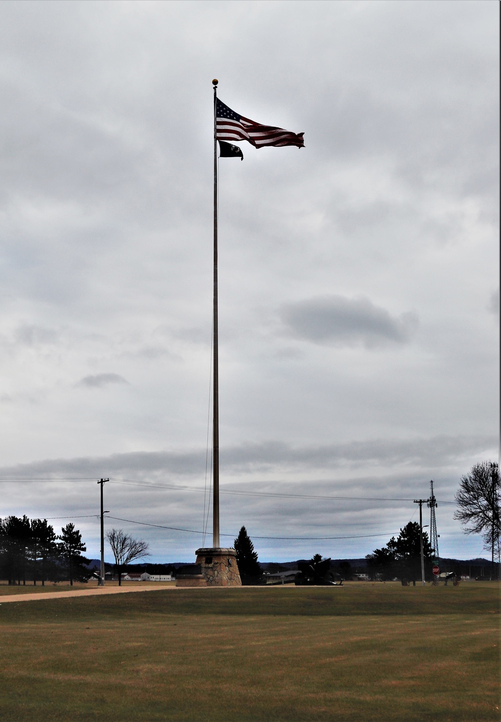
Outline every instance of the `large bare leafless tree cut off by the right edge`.
POLYGON ((492 552, 492 576, 494 558, 500 562, 500 474, 494 461, 475 464, 469 474, 461 477, 455 495, 458 509, 454 518, 465 525, 466 534, 481 534, 484 548, 492 552))

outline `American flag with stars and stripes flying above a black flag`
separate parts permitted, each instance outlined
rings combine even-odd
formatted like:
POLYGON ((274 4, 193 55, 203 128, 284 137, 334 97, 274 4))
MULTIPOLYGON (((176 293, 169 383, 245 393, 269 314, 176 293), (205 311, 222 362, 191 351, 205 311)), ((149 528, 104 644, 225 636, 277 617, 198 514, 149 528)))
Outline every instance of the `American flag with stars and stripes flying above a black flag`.
POLYGON ((249 118, 239 116, 228 108, 228 105, 221 103, 219 98, 215 103, 215 128, 218 140, 231 143, 248 140, 256 148, 262 148, 264 145, 296 145, 298 148, 304 148, 304 133, 296 134, 284 131, 283 128, 254 123, 249 118))

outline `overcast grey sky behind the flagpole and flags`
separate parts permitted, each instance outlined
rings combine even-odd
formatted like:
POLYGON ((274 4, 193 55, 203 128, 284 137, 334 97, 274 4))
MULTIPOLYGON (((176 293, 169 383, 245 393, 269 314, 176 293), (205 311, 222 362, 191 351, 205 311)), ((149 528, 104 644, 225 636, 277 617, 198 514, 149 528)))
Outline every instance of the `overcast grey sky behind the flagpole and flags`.
MULTIPOLYGON (((80 517, 98 557, 110 477, 110 516, 202 530, 217 77, 305 144, 220 160, 220 483, 250 492, 221 495, 222 544, 364 556, 434 479, 440 554, 485 555, 441 501, 498 453, 498 23, 490 0, 2 2, 0 477, 53 481, 1 482, 0 516, 80 517)), ((106 525, 155 561, 202 544, 106 525)))

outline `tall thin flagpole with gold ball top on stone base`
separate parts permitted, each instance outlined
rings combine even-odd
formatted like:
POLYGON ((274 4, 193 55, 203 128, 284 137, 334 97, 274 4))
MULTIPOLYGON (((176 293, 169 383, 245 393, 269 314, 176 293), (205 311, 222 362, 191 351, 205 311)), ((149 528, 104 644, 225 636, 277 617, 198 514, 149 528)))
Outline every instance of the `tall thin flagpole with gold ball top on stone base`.
POLYGON ((214 370, 213 370, 213 548, 219 547, 219 368, 218 368, 218 140, 216 137, 216 108, 218 81, 214 86, 214 370))

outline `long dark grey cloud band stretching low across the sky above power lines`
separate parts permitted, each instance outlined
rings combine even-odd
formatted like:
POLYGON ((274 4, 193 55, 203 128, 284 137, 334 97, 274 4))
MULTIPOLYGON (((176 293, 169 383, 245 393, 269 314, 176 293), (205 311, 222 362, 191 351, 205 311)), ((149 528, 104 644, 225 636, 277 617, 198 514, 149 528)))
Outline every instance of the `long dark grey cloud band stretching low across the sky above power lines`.
MULTIPOLYGON (((338 469, 345 466, 371 467, 416 466, 442 468, 458 463, 459 459, 492 453, 495 436, 438 435, 429 438, 388 440, 372 439, 351 443, 330 443, 294 447, 269 441, 228 447, 221 453, 221 468, 242 474, 265 470, 275 473, 284 469, 338 469)), ((1 476, 30 474, 61 474, 77 476, 148 476, 174 475, 200 477, 205 469, 205 449, 189 451, 134 451, 96 458, 47 459, 33 464, 0 469, 1 476)))

